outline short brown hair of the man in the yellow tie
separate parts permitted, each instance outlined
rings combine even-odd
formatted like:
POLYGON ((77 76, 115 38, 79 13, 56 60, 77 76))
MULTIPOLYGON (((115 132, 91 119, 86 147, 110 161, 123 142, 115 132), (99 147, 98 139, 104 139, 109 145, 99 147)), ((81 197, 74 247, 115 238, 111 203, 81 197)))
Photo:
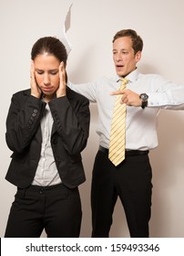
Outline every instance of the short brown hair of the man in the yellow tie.
POLYGON ((138 36, 137 32, 132 29, 123 29, 117 32, 117 34, 113 38, 113 43, 119 37, 131 37, 132 39, 132 48, 134 49, 134 54, 138 51, 142 51, 143 48, 143 40, 138 36))

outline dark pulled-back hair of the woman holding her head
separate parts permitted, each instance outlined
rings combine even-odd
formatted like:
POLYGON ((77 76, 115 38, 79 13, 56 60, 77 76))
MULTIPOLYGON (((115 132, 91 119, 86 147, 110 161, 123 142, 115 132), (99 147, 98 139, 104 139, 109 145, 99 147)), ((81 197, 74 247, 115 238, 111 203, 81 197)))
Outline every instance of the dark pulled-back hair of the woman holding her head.
POLYGON ((54 55, 59 61, 66 65, 67 53, 64 44, 56 37, 41 37, 31 50, 31 59, 36 59, 39 54, 48 53, 54 55))

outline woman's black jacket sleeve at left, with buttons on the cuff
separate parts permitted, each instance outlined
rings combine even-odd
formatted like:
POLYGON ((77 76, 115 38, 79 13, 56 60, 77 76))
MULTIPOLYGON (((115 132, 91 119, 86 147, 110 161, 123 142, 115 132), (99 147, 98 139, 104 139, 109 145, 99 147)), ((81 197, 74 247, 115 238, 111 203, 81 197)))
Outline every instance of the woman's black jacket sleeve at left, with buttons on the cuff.
POLYGON ((6 119, 5 139, 9 149, 22 153, 31 143, 39 125, 46 103, 24 92, 12 97, 6 119))

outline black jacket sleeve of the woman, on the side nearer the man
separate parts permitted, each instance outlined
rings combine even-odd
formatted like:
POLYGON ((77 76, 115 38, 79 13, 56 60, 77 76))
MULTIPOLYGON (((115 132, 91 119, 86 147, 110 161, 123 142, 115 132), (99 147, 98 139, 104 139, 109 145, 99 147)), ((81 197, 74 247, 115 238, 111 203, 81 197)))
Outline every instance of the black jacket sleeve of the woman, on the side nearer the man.
POLYGON ((60 97, 49 102, 57 133, 69 155, 80 153, 87 145, 89 133, 89 101, 81 96, 68 101, 60 97), (72 101, 72 100, 71 100, 72 101))

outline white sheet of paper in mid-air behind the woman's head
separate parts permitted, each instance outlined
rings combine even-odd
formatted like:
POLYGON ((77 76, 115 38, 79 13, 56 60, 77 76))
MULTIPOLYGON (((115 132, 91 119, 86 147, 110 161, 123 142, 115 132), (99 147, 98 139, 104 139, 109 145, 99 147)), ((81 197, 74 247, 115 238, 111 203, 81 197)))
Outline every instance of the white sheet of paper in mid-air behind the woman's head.
POLYGON ((63 25, 63 31, 62 31, 62 36, 60 37, 61 38, 61 41, 63 42, 63 44, 65 45, 66 47, 66 52, 67 52, 67 55, 69 54, 69 52, 71 51, 72 49, 72 45, 70 44, 67 36, 66 36, 66 32, 67 30, 70 28, 70 24, 71 24, 71 7, 72 7, 73 4, 71 4, 67 10, 67 13, 66 13, 66 18, 65 18, 65 23, 63 25))

